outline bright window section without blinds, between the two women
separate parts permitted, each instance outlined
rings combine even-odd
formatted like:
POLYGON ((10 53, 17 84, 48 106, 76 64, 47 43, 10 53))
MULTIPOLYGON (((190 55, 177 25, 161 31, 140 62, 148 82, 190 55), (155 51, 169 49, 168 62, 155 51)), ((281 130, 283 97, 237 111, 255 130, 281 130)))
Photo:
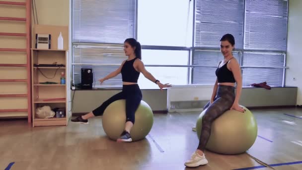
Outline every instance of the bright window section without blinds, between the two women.
MULTIPOLYGON (((190 16, 193 10, 190 4, 192 6, 189 0, 138 1, 138 40, 143 45, 142 60, 145 65, 153 66, 146 69, 161 83, 188 83, 187 67, 167 65, 188 65, 189 49, 186 46, 192 44, 190 16)), ((139 84, 141 88, 158 88, 143 75, 139 84)))

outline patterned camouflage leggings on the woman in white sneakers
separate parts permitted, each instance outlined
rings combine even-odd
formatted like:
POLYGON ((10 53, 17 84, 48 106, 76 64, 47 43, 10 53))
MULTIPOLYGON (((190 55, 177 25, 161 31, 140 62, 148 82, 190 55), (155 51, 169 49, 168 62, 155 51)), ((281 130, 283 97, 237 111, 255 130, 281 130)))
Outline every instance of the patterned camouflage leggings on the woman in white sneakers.
POLYGON ((204 109, 208 108, 202 118, 202 129, 199 140, 198 148, 204 151, 207 142, 211 135, 211 127, 213 121, 224 114, 229 109, 235 99, 235 87, 230 85, 219 85, 214 102, 210 104, 210 101, 204 106, 204 109))

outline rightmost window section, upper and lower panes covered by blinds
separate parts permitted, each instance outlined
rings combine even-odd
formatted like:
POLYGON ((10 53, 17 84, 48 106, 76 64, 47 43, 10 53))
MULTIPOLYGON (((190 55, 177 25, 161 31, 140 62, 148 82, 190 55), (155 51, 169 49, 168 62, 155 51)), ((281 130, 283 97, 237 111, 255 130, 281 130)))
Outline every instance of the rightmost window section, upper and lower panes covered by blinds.
POLYGON ((287 0, 246 0, 243 85, 284 84, 287 5, 287 0))

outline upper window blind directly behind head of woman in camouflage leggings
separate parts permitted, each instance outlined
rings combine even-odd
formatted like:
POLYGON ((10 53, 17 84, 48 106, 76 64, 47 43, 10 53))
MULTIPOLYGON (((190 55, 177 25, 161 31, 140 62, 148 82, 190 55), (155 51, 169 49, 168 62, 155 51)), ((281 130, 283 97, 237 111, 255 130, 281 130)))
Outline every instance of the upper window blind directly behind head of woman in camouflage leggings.
POLYGON ((235 48, 243 48, 243 0, 196 0, 195 47, 220 48, 220 39, 230 33, 235 48))

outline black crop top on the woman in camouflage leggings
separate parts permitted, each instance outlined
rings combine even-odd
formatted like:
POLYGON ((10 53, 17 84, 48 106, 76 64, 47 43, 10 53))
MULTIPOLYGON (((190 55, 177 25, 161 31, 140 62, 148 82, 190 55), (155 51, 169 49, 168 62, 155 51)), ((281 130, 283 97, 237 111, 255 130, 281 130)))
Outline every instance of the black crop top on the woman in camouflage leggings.
MULTIPOLYGON (((233 59, 233 58, 231 58, 231 59, 233 59)), ((229 60, 231 60, 231 59, 229 59, 229 60)), ((227 61, 227 63, 228 63, 228 61, 227 61)), ((235 83, 233 73, 227 69, 227 63, 225 65, 223 65, 221 68, 219 68, 219 65, 220 65, 220 63, 219 63, 218 68, 216 69, 215 73, 217 76, 218 83, 235 83)))

